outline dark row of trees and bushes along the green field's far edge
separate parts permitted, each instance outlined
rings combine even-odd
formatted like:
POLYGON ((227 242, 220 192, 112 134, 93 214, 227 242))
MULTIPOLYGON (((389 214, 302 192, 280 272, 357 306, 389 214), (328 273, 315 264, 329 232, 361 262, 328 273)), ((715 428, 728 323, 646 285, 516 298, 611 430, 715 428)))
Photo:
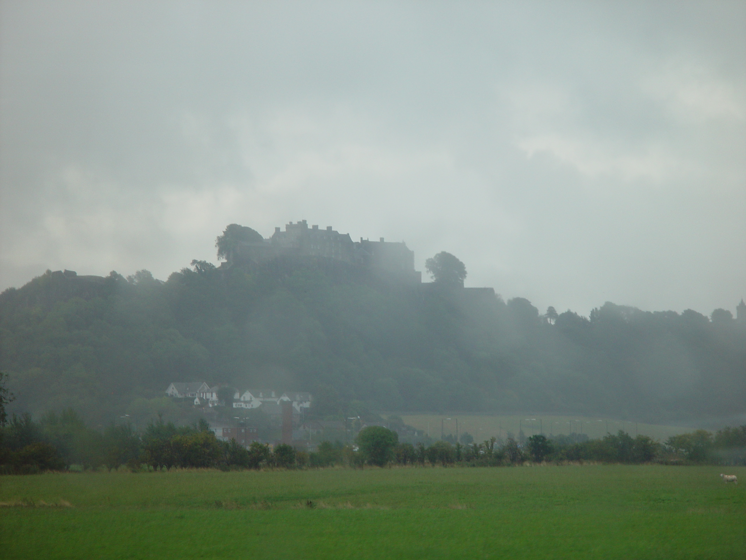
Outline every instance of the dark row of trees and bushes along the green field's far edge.
POLYGON ((39 422, 30 414, 12 415, 0 427, 0 473, 31 474, 46 470, 141 470, 172 468, 321 468, 341 465, 443 467, 499 467, 565 461, 642 464, 746 464, 746 426, 721 429, 715 434, 698 430, 676 435, 660 444, 645 435, 626 432, 596 440, 532 435, 523 445, 513 438, 490 438, 480 444, 433 444, 398 441, 398 434, 383 426, 360 430, 354 444, 324 441, 316 451, 297 451, 286 444, 274 448, 259 441, 248 449, 219 441, 204 420, 193 426, 175 426, 162 419, 148 424, 142 434, 131 425, 110 425, 104 432, 85 426, 75 411, 46 414, 39 422))

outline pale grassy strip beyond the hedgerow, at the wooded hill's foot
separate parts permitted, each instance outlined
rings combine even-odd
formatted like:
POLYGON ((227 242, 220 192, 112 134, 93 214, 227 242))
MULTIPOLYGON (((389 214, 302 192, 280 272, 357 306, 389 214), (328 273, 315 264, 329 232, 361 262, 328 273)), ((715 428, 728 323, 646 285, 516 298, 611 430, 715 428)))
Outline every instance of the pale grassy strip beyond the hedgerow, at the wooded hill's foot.
MULTIPOLYGON (((384 413, 385 415, 385 413, 384 413)), ((607 432, 615 434, 624 430, 635 437, 648 435, 654 440, 665 441, 672 435, 692 432, 693 428, 681 426, 660 426, 657 424, 644 424, 629 422, 627 420, 614 420, 602 417, 584 416, 557 416, 551 414, 459 414, 449 412, 448 414, 401 414, 404 423, 419 430, 429 431, 430 436, 440 439, 441 428, 444 435, 456 435, 468 432, 474 436, 474 441, 485 441, 492 436, 495 438, 507 438, 508 432, 515 437, 522 429, 524 435, 543 433, 544 435, 586 434, 591 439, 603 438, 607 432), (458 426, 457 426, 458 419, 458 426)))

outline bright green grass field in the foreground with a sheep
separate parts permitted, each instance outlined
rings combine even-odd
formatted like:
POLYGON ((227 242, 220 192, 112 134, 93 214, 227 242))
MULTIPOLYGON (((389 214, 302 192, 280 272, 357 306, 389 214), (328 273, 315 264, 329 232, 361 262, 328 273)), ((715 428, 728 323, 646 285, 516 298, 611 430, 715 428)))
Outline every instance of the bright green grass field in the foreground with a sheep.
MULTIPOLYGON (((746 480, 744 467, 725 471, 746 480)), ((726 485, 721 472, 571 465, 2 476, 0 556, 743 560, 746 484, 726 485)))

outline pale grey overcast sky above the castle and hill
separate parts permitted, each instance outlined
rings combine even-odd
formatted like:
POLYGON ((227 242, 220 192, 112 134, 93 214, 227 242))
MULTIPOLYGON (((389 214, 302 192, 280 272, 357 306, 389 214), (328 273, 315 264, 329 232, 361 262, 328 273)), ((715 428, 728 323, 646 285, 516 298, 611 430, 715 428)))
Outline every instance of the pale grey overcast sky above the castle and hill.
POLYGON ((0 289, 308 220, 541 311, 746 296, 746 2, 0 5, 0 289))

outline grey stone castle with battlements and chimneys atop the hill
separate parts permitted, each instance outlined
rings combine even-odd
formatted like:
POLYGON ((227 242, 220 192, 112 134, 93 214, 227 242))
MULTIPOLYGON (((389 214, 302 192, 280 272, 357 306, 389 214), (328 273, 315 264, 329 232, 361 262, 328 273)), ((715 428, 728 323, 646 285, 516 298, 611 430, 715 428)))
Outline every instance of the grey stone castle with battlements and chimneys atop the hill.
POLYGON ((363 237, 353 241, 350 234, 341 234, 330 225, 325 229, 318 225, 309 228, 306 220, 288 223, 285 231, 275 228, 269 239, 240 241, 231 249, 227 264, 261 264, 278 257, 329 258, 358 264, 408 284, 422 281, 422 273, 415 270, 415 254, 404 241, 384 241, 383 237, 378 241, 363 237))

